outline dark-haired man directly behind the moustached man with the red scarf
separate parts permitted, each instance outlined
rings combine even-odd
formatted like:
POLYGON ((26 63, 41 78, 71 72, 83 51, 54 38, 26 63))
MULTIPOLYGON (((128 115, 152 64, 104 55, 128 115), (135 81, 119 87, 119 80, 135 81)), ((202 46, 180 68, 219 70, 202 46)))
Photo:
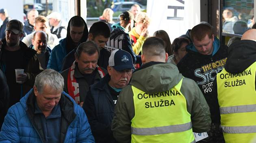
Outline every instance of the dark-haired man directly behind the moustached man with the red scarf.
MULTIPOLYGON (((100 67, 103 67, 104 69, 108 66, 108 58, 110 57, 110 53, 108 50, 104 48, 106 45, 106 42, 108 42, 108 38, 110 36, 110 30, 108 28, 108 25, 102 21, 98 21, 93 23, 91 25, 89 34, 88 34, 88 40, 94 41, 98 47, 100 48, 100 57, 98 59, 98 65, 100 67)), ((74 53, 76 51, 76 48, 72 50, 70 53, 66 55, 66 57, 63 59, 62 69, 61 71, 69 68, 72 63, 75 61, 74 53)))

